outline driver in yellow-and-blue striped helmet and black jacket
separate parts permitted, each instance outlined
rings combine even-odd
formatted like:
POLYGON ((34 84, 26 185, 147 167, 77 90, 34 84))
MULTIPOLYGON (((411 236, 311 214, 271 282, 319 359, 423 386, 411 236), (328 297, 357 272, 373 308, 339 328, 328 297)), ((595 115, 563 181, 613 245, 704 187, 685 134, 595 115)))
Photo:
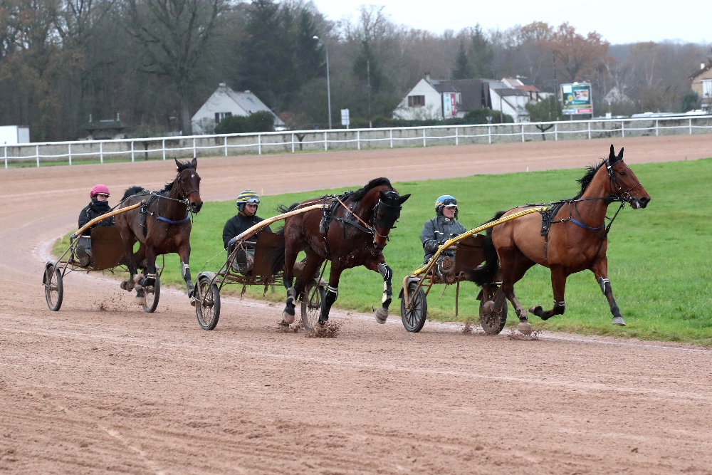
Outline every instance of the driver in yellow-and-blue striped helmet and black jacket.
MULTIPOLYGON (((236 236, 250 229, 255 224, 258 224, 260 221, 264 221, 261 217, 257 216, 257 207, 260 204, 260 197, 256 192, 253 192, 251 189, 246 189, 239 194, 236 204, 238 213, 228 219, 223 227, 223 244, 228 253, 231 253, 234 249, 234 239, 236 236)), ((262 231, 272 232, 269 226, 263 228, 262 231)), ((250 241, 257 241, 258 235, 259 233, 251 236, 250 241)), ((238 249, 235 261, 233 262, 234 270, 242 274, 248 273, 252 270, 254 258, 254 248, 238 249)))

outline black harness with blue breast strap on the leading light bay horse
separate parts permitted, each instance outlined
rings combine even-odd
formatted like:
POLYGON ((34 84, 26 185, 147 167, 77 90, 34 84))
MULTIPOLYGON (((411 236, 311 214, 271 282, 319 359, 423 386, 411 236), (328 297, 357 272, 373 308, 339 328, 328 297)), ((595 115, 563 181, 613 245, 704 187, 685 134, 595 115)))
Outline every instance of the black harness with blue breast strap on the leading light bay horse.
MULTIPOLYGON (((606 170, 608 172, 608 180, 609 180, 609 187, 611 190, 616 189, 618 194, 612 193, 609 194, 607 197, 604 198, 585 198, 585 199, 563 199, 560 202, 551 202, 549 203, 550 206, 546 209, 543 209, 540 214, 541 214, 541 235, 544 236, 544 259, 548 260, 548 250, 549 250, 549 231, 551 229, 552 224, 556 223, 565 223, 566 221, 571 221, 573 224, 582 227, 583 229, 587 229, 588 231, 591 231, 595 236, 597 236, 598 239, 601 240, 600 244, 598 245, 598 249, 596 251, 596 255, 601 251, 601 247, 603 246, 604 241, 606 240, 609 231, 611 230, 611 226, 613 225, 613 221, 616 219, 618 216, 618 213, 623 209, 625 206, 626 202, 629 201, 630 199, 630 191, 634 189, 635 187, 640 186, 640 182, 637 184, 634 184, 632 187, 627 189, 627 191, 622 191, 623 188, 620 186, 618 183, 618 179, 615 176, 615 173, 613 172, 613 165, 609 162, 609 160, 606 160, 606 170), (615 186, 615 187, 614 187, 615 186), (578 208, 576 204, 578 202, 583 202, 583 201, 590 201, 590 200, 595 200, 595 199, 604 199, 609 203, 612 202, 620 202, 621 205, 618 208, 616 214, 612 218, 610 218, 610 221, 608 225, 601 224, 600 226, 597 227, 592 227, 588 226, 587 224, 583 223, 583 218, 581 217, 581 214, 578 212, 578 208), (569 210, 569 217, 565 219, 559 219, 558 221, 554 221, 554 216, 559 212, 559 210, 567 204, 568 210, 569 210), (573 206, 572 206, 573 205, 573 206), (576 212, 578 219, 575 219, 571 209, 576 212), (604 229, 602 234, 598 234, 597 231, 600 231, 601 229, 604 229)), ((527 204, 527 206, 545 206, 545 205, 535 205, 535 204, 527 204)), ((606 219, 609 219, 606 216, 606 219)))

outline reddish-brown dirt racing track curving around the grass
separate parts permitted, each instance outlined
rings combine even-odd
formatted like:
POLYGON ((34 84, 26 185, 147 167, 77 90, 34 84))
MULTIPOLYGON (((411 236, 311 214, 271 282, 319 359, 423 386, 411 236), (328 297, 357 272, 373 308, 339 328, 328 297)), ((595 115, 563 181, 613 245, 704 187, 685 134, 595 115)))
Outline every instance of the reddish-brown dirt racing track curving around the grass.
MULTIPOLYGON (((609 144, 201 159, 198 171, 209 202, 246 187, 578 168, 609 144), (435 169, 436 157, 448 166, 435 169)), ((615 145, 629 165, 712 157, 709 135, 615 145)), ((398 301, 386 325, 333 311, 335 339, 278 333, 281 306, 224 301, 205 332, 182 293, 164 291, 149 315, 117 282, 82 274, 50 312, 48 246, 73 229, 90 187, 155 189, 173 172, 169 162, 0 170, 0 472, 712 474, 708 350, 464 335, 455 324, 410 334, 398 301)))

